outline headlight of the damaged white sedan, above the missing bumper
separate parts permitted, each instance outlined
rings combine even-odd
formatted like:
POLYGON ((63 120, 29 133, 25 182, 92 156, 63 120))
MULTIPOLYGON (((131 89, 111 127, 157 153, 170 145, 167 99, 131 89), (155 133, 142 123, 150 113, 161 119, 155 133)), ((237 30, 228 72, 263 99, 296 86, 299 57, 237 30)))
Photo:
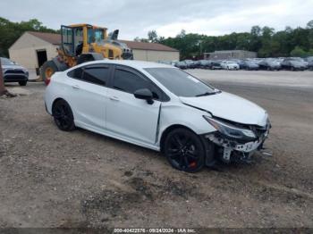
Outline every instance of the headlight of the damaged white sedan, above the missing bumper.
POLYGON ((211 124, 217 131, 222 133, 228 138, 234 138, 239 140, 255 140, 257 136, 252 130, 238 128, 230 123, 223 121, 217 121, 211 117, 203 115, 206 121, 211 124))

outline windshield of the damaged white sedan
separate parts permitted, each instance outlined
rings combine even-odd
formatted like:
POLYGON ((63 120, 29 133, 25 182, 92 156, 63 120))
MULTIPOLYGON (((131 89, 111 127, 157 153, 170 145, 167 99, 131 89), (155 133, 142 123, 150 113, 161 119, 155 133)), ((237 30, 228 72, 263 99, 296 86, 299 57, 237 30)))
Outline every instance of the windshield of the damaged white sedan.
POLYGON ((147 68, 145 70, 176 96, 205 96, 216 93, 215 88, 180 69, 147 68))

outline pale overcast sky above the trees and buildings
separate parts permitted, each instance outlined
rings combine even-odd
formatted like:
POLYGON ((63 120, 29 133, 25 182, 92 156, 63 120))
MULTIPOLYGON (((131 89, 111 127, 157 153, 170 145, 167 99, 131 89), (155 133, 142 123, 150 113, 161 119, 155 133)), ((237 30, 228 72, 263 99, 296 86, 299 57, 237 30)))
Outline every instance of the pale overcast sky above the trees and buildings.
POLYGON ((87 22, 120 29, 120 38, 187 33, 224 35, 251 26, 305 27, 313 20, 313 0, 1 0, 0 16, 10 21, 36 18, 52 29, 87 22))

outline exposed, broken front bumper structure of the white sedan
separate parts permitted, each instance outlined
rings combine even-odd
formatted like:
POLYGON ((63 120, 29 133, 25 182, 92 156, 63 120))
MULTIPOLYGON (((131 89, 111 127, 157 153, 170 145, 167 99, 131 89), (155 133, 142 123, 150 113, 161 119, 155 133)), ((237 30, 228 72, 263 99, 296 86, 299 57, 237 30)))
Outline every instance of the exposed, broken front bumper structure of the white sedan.
POLYGON ((225 138, 218 132, 207 134, 205 137, 217 146, 216 155, 224 163, 230 163, 232 160, 238 161, 250 158, 258 149, 263 147, 268 133, 269 129, 260 135, 257 140, 250 142, 238 142, 235 139, 225 138))

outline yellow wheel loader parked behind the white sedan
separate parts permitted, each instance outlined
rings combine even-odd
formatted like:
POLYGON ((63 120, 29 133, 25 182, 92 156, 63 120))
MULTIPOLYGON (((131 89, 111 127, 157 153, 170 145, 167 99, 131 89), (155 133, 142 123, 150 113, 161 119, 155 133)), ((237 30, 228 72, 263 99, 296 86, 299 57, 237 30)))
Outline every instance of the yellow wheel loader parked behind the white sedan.
POLYGON ((40 79, 46 84, 55 71, 65 71, 72 66, 89 61, 108 59, 133 59, 131 49, 117 40, 118 30, 107 35, 107 29, 89 24, 61 26, 61 46, 57 56, 44 63, 40 79))

